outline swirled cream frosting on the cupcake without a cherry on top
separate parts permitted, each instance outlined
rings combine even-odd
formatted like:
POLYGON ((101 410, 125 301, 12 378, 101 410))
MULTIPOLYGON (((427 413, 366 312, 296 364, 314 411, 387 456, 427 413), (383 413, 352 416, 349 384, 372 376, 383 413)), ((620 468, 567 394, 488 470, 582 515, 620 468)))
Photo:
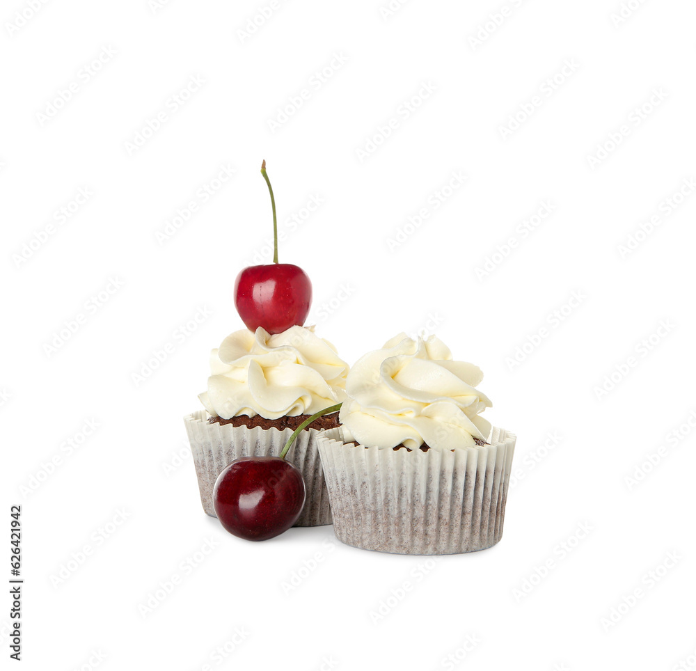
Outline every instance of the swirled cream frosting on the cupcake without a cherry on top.
POLYGON ((477 366, 452 361, 435 336, 413 340, 400 333, 351 368, 340 411, 344 440, 441 450, 486 441, 491 425, 479 413, 491 402, 475 388, 482 379, 477 366))

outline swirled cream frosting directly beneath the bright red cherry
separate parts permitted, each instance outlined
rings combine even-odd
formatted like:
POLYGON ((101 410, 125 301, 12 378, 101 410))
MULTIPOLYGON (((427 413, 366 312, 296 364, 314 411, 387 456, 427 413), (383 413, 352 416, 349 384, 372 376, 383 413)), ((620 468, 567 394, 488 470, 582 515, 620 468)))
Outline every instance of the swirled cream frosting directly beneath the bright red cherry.
POLYGON ((312 328, 269 335, 243 329, 210 354, 208 390, 198 396, 213 416, 266 419, 313 414, 345 399, 348 364, 312 328))

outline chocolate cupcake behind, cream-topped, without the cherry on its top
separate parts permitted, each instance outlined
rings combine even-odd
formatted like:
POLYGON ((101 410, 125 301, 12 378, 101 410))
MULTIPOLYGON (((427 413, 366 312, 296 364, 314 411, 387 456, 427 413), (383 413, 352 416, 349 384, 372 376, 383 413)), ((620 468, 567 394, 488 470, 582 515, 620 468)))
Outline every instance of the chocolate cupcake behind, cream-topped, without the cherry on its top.
MULTIPOLYGON (((303 420, 345 399, 348 365, 313 327, 292 326, 273 335, 261 327, 232 333, 212 350, 210 368, 207 391, 199 395, 205 410, 184 422, 200 501, 214 517, 212 491, 223 468, 239 457, 279 455, 303 420)), ((338 413, 320 417, 287 453, 306 487, 295 526, 331 523, 317 436, 338 426, 338 413)))

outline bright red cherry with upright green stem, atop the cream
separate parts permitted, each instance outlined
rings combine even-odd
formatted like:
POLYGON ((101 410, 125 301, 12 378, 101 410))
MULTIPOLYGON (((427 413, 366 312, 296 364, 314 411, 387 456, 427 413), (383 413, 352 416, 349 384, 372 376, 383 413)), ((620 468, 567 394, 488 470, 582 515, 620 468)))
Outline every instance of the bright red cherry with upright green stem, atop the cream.
POLYGON ((262 326, 269 333, 283 333, 291 326, 302 326, 312 303, 312 283, 306 272, 292 263, 278 263, 278 221, 276 200, 266 174, 261 174, 271 194, 273 210, 273 263, 248 266, 235 281, 235 307, 249 331, 262 326))

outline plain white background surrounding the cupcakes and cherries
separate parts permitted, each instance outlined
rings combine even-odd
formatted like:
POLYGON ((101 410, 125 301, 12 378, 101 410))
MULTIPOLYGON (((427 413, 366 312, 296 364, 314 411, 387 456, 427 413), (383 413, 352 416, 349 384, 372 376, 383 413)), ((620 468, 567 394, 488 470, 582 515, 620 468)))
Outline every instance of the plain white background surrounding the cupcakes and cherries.
POLYGON ((30 4, 0 15, 24 668, 696 665, 693 3, 30 4), (487 416, 519 435, 498 546, 431 562, 331 527, 251 544, 203 514, 182 417, 242 326, 235 276, 270 260, 262 159, 280 260, 343 358, 425 329, 483 368, 487 416))

